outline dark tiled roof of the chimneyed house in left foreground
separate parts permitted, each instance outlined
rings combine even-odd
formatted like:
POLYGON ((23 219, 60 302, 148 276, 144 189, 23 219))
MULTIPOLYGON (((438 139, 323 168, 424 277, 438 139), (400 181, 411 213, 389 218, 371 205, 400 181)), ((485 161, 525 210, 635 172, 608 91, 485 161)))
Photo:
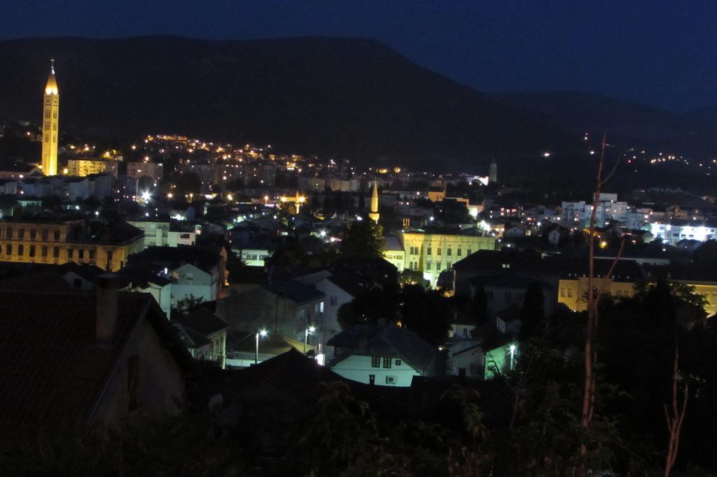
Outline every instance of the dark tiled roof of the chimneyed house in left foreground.
POLYGON ((148 294, 120 293, 115 338, 105 345, 95 339, 95 294, 0 290, 0 302, 0 428, 89 419, 143 317, 180 365, 194 366, 148 294))

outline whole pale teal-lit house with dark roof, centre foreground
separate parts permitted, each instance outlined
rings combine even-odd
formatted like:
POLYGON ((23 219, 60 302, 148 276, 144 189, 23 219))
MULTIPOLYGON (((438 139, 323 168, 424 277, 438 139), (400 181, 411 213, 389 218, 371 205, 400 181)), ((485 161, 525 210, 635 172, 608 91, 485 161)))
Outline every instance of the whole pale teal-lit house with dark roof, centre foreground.
POLYGON ((327 366, 346 379, 369 385, 407 387, 414 376, 433 375, 437 350, 395 324, 359 324, 329 339, 327 366))

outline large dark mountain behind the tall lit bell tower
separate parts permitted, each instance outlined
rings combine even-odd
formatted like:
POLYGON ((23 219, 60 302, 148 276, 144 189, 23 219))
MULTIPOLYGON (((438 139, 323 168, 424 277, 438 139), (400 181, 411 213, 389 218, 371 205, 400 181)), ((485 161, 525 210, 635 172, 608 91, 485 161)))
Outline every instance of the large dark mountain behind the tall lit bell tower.
POLYGON ((0 42, 0 117, 39 120, 50 57, 60 125, 82 137, 179 133, 475 172, 577 143, 366 39, 0 42))

